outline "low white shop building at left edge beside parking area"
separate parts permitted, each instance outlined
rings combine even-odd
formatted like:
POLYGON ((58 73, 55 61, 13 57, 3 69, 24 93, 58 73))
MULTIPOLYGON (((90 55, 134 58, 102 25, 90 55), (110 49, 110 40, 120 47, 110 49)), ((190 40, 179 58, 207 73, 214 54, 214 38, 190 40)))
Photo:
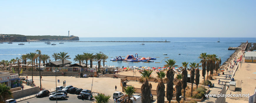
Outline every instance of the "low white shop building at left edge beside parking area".
POLYGON ((21 80, 18 74, 8 72, 0 72, 0 83, 6 84, 8 87, 16 88, 21 86, 21 80))

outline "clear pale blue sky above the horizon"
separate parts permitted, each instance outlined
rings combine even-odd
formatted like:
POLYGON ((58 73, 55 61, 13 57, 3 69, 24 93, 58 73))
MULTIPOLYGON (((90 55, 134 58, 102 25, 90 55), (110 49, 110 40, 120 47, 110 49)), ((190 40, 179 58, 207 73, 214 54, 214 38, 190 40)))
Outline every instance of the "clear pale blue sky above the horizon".
POLYGON ((255 0, 1 0, 0 34, 255 37, 255 0))

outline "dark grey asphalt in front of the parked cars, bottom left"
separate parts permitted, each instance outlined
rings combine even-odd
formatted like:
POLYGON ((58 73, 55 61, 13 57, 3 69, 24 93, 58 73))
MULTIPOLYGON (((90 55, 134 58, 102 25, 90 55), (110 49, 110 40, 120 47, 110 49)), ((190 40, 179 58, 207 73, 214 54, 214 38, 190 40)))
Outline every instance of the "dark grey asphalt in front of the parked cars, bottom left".
MULTIPOLYGON (((79 102, 91 103, 92 101, 77 99, 76 94, 68 94, 67 97, 63 100, 58 99, 58 103, 79 103, 79 102)), ((42 97, 42 98, 34 97, 34 98, 31 98, 31 99, 21 101, 19 103, 56 103, 56 99, 50 100, 48 97, 42 97)))

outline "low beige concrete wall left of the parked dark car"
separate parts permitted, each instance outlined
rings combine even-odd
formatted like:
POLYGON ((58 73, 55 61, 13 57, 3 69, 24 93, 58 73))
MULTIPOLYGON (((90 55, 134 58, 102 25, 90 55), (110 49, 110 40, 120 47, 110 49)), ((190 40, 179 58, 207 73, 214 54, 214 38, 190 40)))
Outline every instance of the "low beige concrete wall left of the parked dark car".
POLYGON ((39 87, 32 87, 29 89, 14 91, 12 92, 12 96, 13 96, 13 99, 19 99, 29 95, 37 94, 38 92, 40 92, 39 87))

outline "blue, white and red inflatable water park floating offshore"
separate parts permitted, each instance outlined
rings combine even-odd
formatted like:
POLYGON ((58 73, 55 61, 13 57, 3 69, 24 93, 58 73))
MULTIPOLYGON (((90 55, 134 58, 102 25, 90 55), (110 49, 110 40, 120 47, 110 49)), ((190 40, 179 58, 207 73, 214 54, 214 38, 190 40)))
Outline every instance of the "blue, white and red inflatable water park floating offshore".
POLYGON ((152 60, 155 60, 155 59, 156 58, 151 58, 151 57, 139 58, 138 54, 135 54, 135 57, 133 55, 127 55, 124 59, 121 56, 119 56, 110 60, 111 61, 127 61, 127 62, 154 62, 152 60))

